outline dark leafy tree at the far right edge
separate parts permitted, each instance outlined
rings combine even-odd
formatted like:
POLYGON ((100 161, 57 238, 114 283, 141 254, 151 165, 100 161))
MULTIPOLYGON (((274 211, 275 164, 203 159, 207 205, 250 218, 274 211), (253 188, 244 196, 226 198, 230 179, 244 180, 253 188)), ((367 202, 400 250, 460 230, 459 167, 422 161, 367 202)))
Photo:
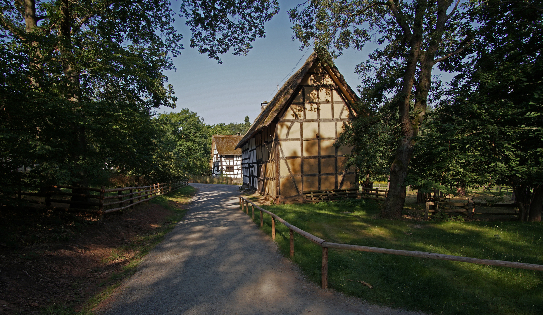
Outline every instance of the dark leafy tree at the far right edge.
POLYGON ((463 157, 456 161, 465 174, 448 172, 459 182, 513 187, 520 219, 529 221, 541 220, 543 204, 541 4, 494 0, 471 12, 480 35, 447 64, 459 74, 432 114, 434 137, 422 146, 448 142, 447 155, 463 157))

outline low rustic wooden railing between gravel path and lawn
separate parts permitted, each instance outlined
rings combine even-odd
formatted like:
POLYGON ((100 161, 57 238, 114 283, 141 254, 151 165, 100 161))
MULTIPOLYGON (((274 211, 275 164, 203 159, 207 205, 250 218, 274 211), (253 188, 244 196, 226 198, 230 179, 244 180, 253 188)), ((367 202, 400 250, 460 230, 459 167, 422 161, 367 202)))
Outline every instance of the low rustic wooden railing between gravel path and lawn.
POLYGON ((514 261, 505 261, 505 260, 493 260, 493 259, 479 259, 471 257, 462 257, 438 253, 427 253, 419 251, 402 251, 402 250, 391 250, 389 248, 380 248, 380 247, 370 247, 370 246, 359 246, 359 245, 349 245, 349 244, 338 244, 327 242, 321 238, 316 237, 315 235, 308 233, 298 227, 295 227, 292 224, 289 224, 287 221, 281 219, 275 213, 269 212, 266 209, 263 209, 254 202, 251 202, 245 199, 242 196, 239 196, 239 206, 242 211, 246 208, 247 214, 249 214, 249 204, 251 205, 252 219, 255 219, 255 208, 260 210, 260 227, 264 225, 263 213, 267 213, 271 216, 271 239, 275 240, 275 220, 281 222, 286 227, 290 229, 290 255, 294 256, 294 232, 302 235, 306 239, 314 242, 323 249, 323 259, 321 262, 321 286, 323 289, 328 288, 328 248, 337 248, 340 250, 352 250, 352 251, 361 251, 361 252, 371 252, 371 253, 382 253, 382 254, 392 254, 392 255, 402 255, 409 257, 420 257, 420 258, 430 258, 430 259, 440 259, 440 260, 452 260, 452 261, 462 261, 462 262, 471 262, 472 264, 481 264, 481 265, 490 265, 490 266, 501 266, 501 267, 510 267, 510 268, 521 268, 527 270, 539 270, 543 271, 543 265, 536 264, 526 264, 525 262, 514 262, 514 261))

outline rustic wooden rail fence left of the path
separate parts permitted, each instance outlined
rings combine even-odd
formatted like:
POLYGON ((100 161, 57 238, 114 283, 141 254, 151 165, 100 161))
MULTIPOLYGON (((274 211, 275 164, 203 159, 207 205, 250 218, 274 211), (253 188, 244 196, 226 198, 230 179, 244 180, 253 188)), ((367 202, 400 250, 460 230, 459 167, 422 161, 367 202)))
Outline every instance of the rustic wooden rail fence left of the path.
POLYGON ((174 192, 187 185, 188 183, 185 180, 173 183, 165 182, 149 186, 118 187, 113 189, 105 189, 104 186, 101 188, 49 186, 44 187, 45 189, 40 189, 40 192, 37 193, 19 192, 15 199, 19 201, 20 205, 28 202, 38 207, 45 206, 47 209, 106 214, 121 211, 122 209, 134 208, 135 205, 141 202, 174 192), (71 192, 65 192, 61 189, 71 189, 71 192), (80 193, 85 191, 88 193, 80 193), (22 198, 22 196, 28 197, 22 198), (63 197, 66 199, 62 199, 63 197), (71 199, 67 199, 67 197, 71 199), (68 205, 68 207, 62 205, 68 205))

